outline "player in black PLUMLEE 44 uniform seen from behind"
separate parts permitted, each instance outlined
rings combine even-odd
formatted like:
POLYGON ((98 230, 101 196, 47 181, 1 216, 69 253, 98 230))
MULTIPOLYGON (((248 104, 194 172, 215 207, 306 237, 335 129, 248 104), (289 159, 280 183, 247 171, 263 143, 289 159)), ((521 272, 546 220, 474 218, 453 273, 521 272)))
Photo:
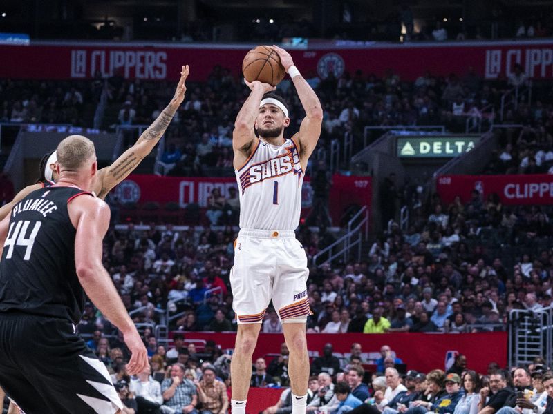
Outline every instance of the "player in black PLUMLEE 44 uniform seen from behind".
POLYGON ((75 333, 84 293, 123 333, 129 375, 148 366, 147 352, 102 265, 109 207, 89 193, 94 144, 71 135, 57 154, 58 183, 0 222, 0 384, 28 414, 118 413, 106 367, 75 333))

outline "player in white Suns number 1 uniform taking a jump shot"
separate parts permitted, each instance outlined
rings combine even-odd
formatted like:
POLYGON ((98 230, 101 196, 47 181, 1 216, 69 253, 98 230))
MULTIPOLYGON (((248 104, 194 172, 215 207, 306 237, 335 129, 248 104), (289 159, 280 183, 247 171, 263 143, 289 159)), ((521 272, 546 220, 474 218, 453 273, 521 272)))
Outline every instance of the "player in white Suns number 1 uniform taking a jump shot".
POLYGON ((299 132, 285 139, 284 128, 290 125, 290 117, 284 99, 267 83, 246 82, 250 96, 238 112, 232 135, 241 204, 240 233, 230 273, 238 319, 231 364, 234 414, 245 413, 252 354, 271 299, 290 350, 292 414, 306 412, 306 319, 311 311, 307 257, 294 230, 299 224, 303 175, 321 133, 323 110, 290 54, 277 46, 272 48, 292 77, 306 117, 299 132))

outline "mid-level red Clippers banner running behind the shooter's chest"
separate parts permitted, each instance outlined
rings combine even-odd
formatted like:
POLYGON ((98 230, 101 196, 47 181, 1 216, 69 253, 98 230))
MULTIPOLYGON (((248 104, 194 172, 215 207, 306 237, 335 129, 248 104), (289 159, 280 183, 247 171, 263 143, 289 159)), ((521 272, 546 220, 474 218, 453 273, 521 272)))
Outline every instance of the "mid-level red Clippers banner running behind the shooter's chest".
MULTIPOLYGON (((214 188, 229 197, 229 188, 238 188, 234 177, 160 177, 158 175, 133 174, 115 187, 114 195, 121 203, 159 204, 176 202, 181 207, 197 203, 207 207, 207 197, 214 188)), ((346 177, 334 175, 330 188, 329 210, 332 222, 339 225, 344 211, 351 205, 371 206, 371 177, 346 177)), ((303 181, 302 217, 310 211, 313 192, 309 177, 303 181)))

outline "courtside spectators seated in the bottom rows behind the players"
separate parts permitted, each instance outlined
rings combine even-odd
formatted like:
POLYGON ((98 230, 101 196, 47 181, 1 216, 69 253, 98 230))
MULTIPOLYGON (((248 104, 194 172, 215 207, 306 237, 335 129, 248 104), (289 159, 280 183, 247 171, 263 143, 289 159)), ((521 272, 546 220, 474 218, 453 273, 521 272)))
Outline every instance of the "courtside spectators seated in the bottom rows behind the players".
MULTIPOLYGON (((151 337, 150 337, 151 338, 151 337)), ((130 377, 124 351, 95 333, 88 346, 99 353, 115 384, 127 413, 225 414, 232 384, 229 362, 213 341, 203 348, 184 341, 176 333, 174 345, 149 346, 150 367, 130 377), (106 350, 107 348, 107 350, 106 350)), ((269 356, 267 356, 269 357, 269 356)), ((258 357, 252 364, 250 387, 281 388, 277 402, 265 402, 263 414, 290 414, 292 411, 288 348, 272 359, 258 357)), ((532 364, 501 369, 490 362, 487 371, 471 369, 465 355, 428 373, 406 370, 402 359, 389 346, 382 346, 379 359, 367 359, 358 343, 340 361, 332 345, 312 359, 308 381, 308 413, 343 414, 550 414, 553 412, 553 374, 541 357, 532 364)))

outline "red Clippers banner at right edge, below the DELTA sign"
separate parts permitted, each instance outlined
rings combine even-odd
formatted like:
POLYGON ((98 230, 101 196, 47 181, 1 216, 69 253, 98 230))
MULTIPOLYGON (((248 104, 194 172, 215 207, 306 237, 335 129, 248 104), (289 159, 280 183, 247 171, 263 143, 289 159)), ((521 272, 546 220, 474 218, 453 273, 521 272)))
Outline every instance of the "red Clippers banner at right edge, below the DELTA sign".
POLYGON ((470 201, 472 190, 482 194, 482 200, 496 193, 503 204, 553 204, 553 175, 442 175, 436 180, 436 190, 444 203, 458 195, 463 203, 470 201))

